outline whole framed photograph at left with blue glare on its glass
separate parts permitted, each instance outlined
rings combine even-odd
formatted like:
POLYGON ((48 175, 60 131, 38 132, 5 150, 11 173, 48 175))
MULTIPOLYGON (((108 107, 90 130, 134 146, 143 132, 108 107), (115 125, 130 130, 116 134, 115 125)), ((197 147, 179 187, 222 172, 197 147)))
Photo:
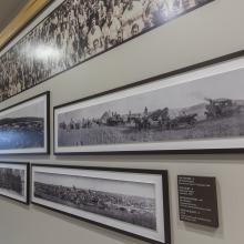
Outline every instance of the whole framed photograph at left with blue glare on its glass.
POLYGON ((48 154, 50 93, 0 111, 0 154, 48 154))

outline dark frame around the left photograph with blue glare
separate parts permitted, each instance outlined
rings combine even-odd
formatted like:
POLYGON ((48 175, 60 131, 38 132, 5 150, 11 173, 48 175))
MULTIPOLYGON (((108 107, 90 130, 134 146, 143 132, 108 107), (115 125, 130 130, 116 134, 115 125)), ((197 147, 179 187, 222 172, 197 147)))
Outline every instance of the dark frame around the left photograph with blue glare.
POLYGON ((0 153, 0 155, 33 155, 33 154, 34 155, 43 155, 43 154, 50 154, 50 91, 42 92, 38 95, 31 96, 27 100, 23 100, 23 101, 19 102, 19 103, 14 103, 10 106, 7 106, 7 108, 0 110, 0 113, 3 112, 3 111, 10 110, 14 106, 21 105, 21 104, 23 104, 26 102, 29 102, 31 100, 38 99, 40 96, 44 96, 44 95, 47 96, 47 121, 45 121, 45 126, 47 126, 47 151, 43 152, 43 153, 42 152, 41 153, 39 153, 39 152, 38 153, 0 153))

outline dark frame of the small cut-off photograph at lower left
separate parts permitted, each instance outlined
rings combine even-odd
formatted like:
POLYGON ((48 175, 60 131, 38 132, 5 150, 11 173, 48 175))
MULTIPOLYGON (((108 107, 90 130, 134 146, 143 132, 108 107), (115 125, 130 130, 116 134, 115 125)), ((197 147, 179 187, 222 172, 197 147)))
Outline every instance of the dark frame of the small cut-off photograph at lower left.
POLYGON ((18 199, 14 199, 14 197, 11 197, 11 196, 8 196, 8 195, 4 195, 4 194, 1 194, 1 196, 6 197, 6 199, 9 199, 9 200, 13 200, 18 203, 22 203, 22 204, 26 204, 26 205, 29 205, 30 204, 30 163, 29 162, 11 162, 11 161, 0 161, 0 165, 1 164, 9 164, 9 165, 26 165, 26 174, 27 174, 27 182, 24 184, 24 187, 26 187, 26 201, 21 201, 21 200, 18 200, 18 199))

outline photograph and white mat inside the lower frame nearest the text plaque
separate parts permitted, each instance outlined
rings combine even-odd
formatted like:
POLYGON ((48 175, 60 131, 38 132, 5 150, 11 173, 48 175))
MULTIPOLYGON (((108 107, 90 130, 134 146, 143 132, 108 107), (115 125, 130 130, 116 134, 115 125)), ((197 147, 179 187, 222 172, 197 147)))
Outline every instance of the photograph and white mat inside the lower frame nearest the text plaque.
POLYGON ((51 170, 33 166, 32 202, 129 232, 157 233, 159 201, 155 194, 160 182, 162 197, 162 175, 144 174, 152 182, 156 179, 156 183, 152 183, 143 182, 143 174, 138 173, 92 173, 92 170, 84 170, 83 174, 79 169, 65 172, 62 166, 51 170), (135 177, 132 180, 131 175, 135 177), (138 175, 141 180, 136 180, 138 175))

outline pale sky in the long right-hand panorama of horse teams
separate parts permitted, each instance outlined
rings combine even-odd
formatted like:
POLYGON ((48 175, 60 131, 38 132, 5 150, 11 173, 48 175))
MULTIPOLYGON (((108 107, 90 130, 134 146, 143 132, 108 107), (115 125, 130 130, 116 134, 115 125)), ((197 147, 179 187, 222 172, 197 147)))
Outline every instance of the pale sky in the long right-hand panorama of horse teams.
POLYGON ((244 100, 244 69, 200 79, 182 84, 162 88, 152 92, 120 99, 99 105, 88 106, 59 114, 59 121, 101 118, 105 111, 120 114, 142 113, 146 106, 149 111, 157 109, 183 109, 206 102, 204 99, 227 98, 244 100))

